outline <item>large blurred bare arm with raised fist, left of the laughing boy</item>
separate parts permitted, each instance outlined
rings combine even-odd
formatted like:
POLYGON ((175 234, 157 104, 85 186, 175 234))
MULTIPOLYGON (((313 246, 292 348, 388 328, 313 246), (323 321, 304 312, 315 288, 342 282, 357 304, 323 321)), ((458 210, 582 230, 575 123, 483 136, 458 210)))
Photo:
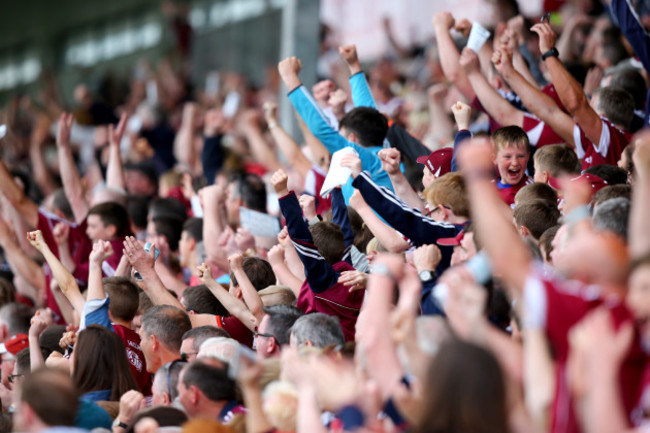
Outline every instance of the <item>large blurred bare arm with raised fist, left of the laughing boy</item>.
POLYGON ((458 152, 458 163, 467 184, 472 223, 492 260, 495 274, 521 294, 532 258, 503 212, 503 201, 492 182, 494 165, 489 141, 475 139, 463 146, 458 152))

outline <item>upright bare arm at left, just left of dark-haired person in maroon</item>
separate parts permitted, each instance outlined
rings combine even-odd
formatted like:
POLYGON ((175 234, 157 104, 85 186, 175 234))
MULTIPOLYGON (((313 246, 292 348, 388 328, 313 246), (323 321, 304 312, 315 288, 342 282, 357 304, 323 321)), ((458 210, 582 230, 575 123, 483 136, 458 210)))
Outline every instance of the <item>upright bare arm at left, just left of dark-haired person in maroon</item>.
POLYGON ((56 133, 56 145, 59 154, 63 190, 70 202, 76 222, 81 223, 86 218, 86 215, 88 215, 89 205, 84 197, 81 177, 79 177, 79 171, 77 171, 77 166, 72 155, 72 148, 70 147, 70 130, 72 129, 73 122, 74 117, 72 114, 61 114, 56 133))

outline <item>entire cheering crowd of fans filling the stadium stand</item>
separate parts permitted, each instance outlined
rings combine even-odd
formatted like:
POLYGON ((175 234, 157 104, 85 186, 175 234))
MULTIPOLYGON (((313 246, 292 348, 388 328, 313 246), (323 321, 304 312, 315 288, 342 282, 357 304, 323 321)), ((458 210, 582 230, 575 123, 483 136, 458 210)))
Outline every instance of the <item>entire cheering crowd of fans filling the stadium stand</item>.
POLYGON ((0 431, 648 431, 650 8, 495 5, 12 98, 0 431))

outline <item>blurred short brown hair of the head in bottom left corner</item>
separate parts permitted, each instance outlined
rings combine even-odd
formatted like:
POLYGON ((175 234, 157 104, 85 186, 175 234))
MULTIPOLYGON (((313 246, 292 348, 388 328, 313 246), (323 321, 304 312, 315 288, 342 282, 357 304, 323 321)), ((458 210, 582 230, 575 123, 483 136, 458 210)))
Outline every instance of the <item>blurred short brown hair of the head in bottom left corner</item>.
POLYGON ((21 389, 21 402, 29 405, 43 423, 48 426, 75 425, 79 394, 68 373, 40 367, 25 377, 21 389))

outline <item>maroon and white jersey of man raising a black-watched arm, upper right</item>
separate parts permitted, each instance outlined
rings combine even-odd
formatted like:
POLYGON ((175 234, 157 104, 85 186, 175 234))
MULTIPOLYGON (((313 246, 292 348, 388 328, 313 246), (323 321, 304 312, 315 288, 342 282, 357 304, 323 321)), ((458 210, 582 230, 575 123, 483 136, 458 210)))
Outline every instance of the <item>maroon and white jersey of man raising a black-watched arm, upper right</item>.
POLYGON ((578 124, 573 127, 576 153, 578 158, 582 160, 583 170, 594 165, 616 165, 621 158, 623 149, 625 149, 632 137, 629 132, 621 131, 604 117, 601 117, 601 119, 603 129, 598 144, 592 143, 578 124))

